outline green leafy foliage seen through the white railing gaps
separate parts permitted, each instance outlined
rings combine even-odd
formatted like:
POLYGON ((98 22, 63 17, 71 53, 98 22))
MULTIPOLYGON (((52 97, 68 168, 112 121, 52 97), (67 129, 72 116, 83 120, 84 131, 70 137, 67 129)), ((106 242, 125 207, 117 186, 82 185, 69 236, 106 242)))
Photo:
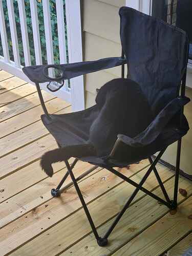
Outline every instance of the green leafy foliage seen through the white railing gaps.
MULTIPOLYGON (((38 20, 39 20, 42 63, 47 64, 46 39, 45 39, 45 27, 44 27, 44 14, 42 11, 42 1, 41 0, 36 0, 36 1, 37 1, 37 13, 38 13, 38 20)), ((51 27, 52 27, 52 38, 53 38, 54 62, 58 64, 59 48, 58 48, 56 4, 55 4, 55 0, 50 0, 49 2, 50 2, 51 27)), ((17 0, 13 0, 13 5, 14 5, 14 12, 15 12, 15 22, 16 22, 16 29, 17 29, 20 61, 21 61, 21 64, 25 66, 24 51, 23 51, 23 44, 22 44, 22 33, 20 31, 20 19, 19 19, 17 0)), ((6 24, 6 31, 7 31, 7 37, 8 37, 10 59, 14 60, 6 0, 3 0, 3 8, 4 8, 4 15, 5 15, 5 24, 6 24)), ((29 36, 31 62, 32 62, 32 65, 35 65, 35 50, 34 50, 34 42, 33 42, 33 30, 32 30, 32 24, 31 24, 31 12, 30 12, 29 0, 25 0, 25 9, 26 9, 26 21, 27 21, 27 29, 28 29, 28 36, 29 36)), ((64 16, 65 16, 65 25, 66 25, 65 0, 63 0, 63 10, 64 10, 64 16)), ((65 26, 65 28, 67 28, 67 26, 65 26)), ((67 31, 65 31, 65 34, 66 34, 66 42, 67 42, 67 31)), ((67 48, 67 43, 66 43, 66 48, 67 48)), ((0 55, 3 56, 2 44, 0 44, 0 55)), ((68 51, 67 51, 67 60, 68 60, 68 51)))

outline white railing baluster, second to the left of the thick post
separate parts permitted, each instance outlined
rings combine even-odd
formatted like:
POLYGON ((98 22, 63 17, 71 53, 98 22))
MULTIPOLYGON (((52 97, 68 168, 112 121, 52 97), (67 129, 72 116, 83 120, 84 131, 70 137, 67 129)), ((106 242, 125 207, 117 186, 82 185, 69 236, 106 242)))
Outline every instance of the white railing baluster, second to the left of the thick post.
POLYGON ((44 11, 44 26, 45 26, 45 36, 46 36, 47 62, 48 62, 48 64, 53 64, 54 63, 53 39, 52 39, 52 30, 51 30, 49 0, 42 1, 42 8, 44 11))

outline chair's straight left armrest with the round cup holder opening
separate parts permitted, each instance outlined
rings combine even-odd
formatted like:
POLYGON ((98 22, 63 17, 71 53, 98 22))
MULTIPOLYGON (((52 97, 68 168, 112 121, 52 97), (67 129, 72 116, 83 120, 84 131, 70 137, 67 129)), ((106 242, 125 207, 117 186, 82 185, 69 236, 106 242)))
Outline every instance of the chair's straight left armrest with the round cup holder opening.
MULTIPOLYGON (((75 62, 62 65, 39 65, 24 67, 23 72, 26 76, 35 83, 50 82, 55 79, 45 76, 45 69, 49 67, 55 67, 62 70, 63 78, 70 79, 80 75, 96 72, 103 69, 110 69, 116 66, 124 65, 126 63, 125 58, 111 57, 103 58, 94 61, 75 62)), ((58 79, 61 80, 61 79, 58 79)))

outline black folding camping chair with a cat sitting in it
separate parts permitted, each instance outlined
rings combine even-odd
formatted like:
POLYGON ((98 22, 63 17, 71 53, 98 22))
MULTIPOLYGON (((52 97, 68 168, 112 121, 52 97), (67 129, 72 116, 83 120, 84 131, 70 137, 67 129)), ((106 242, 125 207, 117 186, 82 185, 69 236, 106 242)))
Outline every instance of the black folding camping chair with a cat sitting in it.
POLYGON ((90 125, 98 113, 96 107, 92 106, 87 110, 76 113, 50 115, 41 95, 39 87, 39 83, 41 82, 50 82, 48 88, 53 91, 60 88, 62 83, 58 83, 58 88, 51 88, 52 81, 64 81, 65 79, 82 74, 120 65, 122 67, 122 77, 124 77, 124 65, 127 64, 129 70, 127 77, 140 84, 142 91, 151 105, 153 114, 156 116, 154 121, 135 138, 118 135, 113 150, 107 157, 83 157, 75 159, 71 165, 68 161, 65 161, 68 171, 57 188, 51 191, 53 197, 59 196, 61 185, 65 182, 68 175, 71 176, 99 246, 108 244, 110 233, 121 219, 125 210, 130 206, 139 190, 142 190, 148 196, 166 205, 169 209, 175 209, 177 207, 181 138, 189 129, 187 120, 183 115, 183 106, 189 102, 189 99, 185 97, 188 59, 188 40, 186 33, 181 29, 164 23, 160 19, 145 15, 128 7, 120 8, 119 15, 122 44, 121 57, 65 65, 32 66, 23 69, 31 81, 36 83, 40 102, 45 112, 41 116, 42 122, 54 136, 59 147, 86 141, 89 138, 90 125), (49 68, 55 68, 55 73, 57 74, 54 78, 50 77, 49 68), (156 164, 165 152, 166 147, 175 141, 178 141, 175 186, 173 200, 170 200, 156 169, 156 164), (153 160, 152 156, 157 152, 160 153, 153 160), (127 166, 145 158, 148 158, 151 166, 139 184, 114 169, 114 167, 127 166), (75 179, 72 169, 78 160, 104 167, 136 187, 132 196, 102 238, 99 237, 77 184, 77 180, 86 176, 93 169, 75 179), (144 182, 152 171, 155 173, 165 200, 143 187, 144 182))

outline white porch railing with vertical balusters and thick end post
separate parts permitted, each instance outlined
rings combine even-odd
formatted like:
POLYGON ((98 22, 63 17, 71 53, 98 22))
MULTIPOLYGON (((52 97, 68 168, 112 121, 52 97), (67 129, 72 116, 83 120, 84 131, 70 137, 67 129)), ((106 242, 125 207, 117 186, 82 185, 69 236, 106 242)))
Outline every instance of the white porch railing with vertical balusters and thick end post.
MULTIPOLYGON (((3 48, 3 56, 0 55, 0 68, 29 82, 29 79, 22 72, 23 66, 20 61, 20 53, 18 47, 17 29, 15 23, 15 10, 13 0, 6 0, 8 8, 9 26, 11 33, 12 51, 14 61, 10 59, 8 38, 5 24, 5 15, 3 9, 3 0, 0 0, 0 32, 1 42, 3 48)), ((67 46, 69 62, 82 61, 82 43, 81 43, 81 19, 80 19, 80 3, 79 0, 55 0, 56 18, 57 18, 57 37, 58 37, 58 51, 59 62, 67 63, 66 50, 66 28, 64 20, 63 2, 65 1, 66 8, 66 23, 67 23, 67 46)), ((42 65, 41 41, 39 34, 39 20, 38 20, 38 6, 37 0, 28 0, 30 3, 31 23, 33 32, 34 55, 36 65, 42 65)), ((51 13, 50 1, 38 0, 42 3, 42 10, 44 16, 45 39, 47 63, 54 63, 52 27, 51 27, 51 13)), ((28 27, 26 21, 25 0, 17 0, 20 31, 22 33, 22 44, 25 59, 25 66, 31 65, 30 44, 28 36, 28 27)), ((74 111, 84 109, 84 91, 83 91, 83 77, 70 79, 70 86, 66 80, 66 86, 54 93, 55 96, 71 102, 74 111)), ((46 85, 41 84, 41 88, 47 91, 46 85)), ((48 91, 51 93, 50 91, 48 91)))

